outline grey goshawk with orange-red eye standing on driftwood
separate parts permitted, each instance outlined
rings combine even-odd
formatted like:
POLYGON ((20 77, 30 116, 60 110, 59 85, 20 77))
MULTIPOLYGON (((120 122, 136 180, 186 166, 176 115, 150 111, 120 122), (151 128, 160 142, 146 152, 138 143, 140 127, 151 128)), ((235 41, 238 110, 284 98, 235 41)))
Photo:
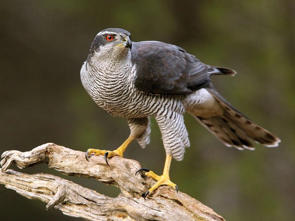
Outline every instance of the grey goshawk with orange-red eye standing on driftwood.
POLYGON ((88 149, 86 159, 92 153, 104 155, 106 162, 107 158, 123 157, 134 139, 145 148, 149 143, 149 118, 153 116, 162 134, 166 161, 161 176, 140 169, 157 181, 143 194, 146 197, 161 185, 177 189, 170 181, 169 168, 172 158, 181 161, 185 147, 190 145, 185 112, 226 146, 254 149, 249 139, 277 146, 279 138, 237 111, 211 83, 213 75, 235 74, 229 68, 204 64, 172 44, 131 42, 130 33, 121 28, 100 31, 82 66, 81 80, 99 107, 127 120, 130 136, 114 151, 88 149))

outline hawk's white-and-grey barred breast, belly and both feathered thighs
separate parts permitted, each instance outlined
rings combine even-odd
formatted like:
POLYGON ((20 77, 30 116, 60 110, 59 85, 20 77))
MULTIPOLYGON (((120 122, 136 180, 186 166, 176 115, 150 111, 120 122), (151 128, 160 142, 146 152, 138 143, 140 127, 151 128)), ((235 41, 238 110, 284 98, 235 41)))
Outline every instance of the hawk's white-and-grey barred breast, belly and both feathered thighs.
MULTIPOLYGON (((133 81, 135 69, 128 64, 120 68, 131 75, 116 73, 112 69, 97 69, 97 64, 93 69, 90 63, 87 61, 83 65, 81 79, 94 102, 113 116, 126 118, 131 134, 137 137, 143 148, 149 143, 148 117, 154 116, 166 153, 181 160, 189 139, 183 121, 185 109, 179 95, 148 94, 136 90, 133 81)), ((116 64, 111 66, 117 68, 116 64)))

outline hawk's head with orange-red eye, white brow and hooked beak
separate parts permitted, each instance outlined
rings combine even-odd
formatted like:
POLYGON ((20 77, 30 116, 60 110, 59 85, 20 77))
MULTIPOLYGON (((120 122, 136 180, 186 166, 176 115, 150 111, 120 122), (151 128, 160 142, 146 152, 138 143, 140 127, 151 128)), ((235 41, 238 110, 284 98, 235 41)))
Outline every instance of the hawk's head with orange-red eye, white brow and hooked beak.
POLYGON ((131 50, 130 33, 121 28, 107 28, 100 31, 92 42, 89 58, 114 59, 128 55, 131 50))

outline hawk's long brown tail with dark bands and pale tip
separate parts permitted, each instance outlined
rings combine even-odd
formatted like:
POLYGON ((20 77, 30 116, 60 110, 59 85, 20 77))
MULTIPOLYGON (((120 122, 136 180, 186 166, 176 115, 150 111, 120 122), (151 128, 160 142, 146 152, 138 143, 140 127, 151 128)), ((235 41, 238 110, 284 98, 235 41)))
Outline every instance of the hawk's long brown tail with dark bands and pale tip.
POLYGON ((220 104, 223 113, 210 117, 194 117, 225 145, 234 146, 238 149, 254 149, 249 138, 267 147, 277 146, 281 141, 266 129, 258 126, 241 112, 237 111, 219 95, 212 84, 206 89, 220 104))

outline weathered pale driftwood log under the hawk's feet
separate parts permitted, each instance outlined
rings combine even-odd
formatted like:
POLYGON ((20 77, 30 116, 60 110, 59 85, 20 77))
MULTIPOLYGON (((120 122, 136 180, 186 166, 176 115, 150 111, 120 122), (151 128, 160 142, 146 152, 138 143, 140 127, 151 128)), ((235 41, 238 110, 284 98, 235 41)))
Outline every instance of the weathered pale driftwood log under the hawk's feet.
POLYGON ((1 184, 29 199, 46 202, 46 209, 55 207, 67 216, 114 221, 224 221, 198 200, 185 193, 176 193, 171 187, 159 187, 145 200, 142 194, 155 181, 146 177, 144 172, 135 175, 141 166, 134 160, 113 157, 107 166, 103 156, 91 156, 88 162, 84 152, 54 143, 43 144, 28 152, 5 151, 1 157, 1 184), (121 193, 115 198, 109 197, 58 176, 17 172, 8 169, 12 163, 22 169, 46 163, 66 175, 94 178, 114 185, 121 193))

